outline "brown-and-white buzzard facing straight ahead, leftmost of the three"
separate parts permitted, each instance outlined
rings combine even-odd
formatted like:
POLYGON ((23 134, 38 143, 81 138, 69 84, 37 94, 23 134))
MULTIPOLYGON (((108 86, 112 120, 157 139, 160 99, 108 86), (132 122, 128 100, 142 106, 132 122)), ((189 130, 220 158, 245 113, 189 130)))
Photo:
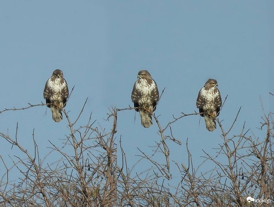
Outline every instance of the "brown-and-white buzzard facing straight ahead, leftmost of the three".
POLYGON ((51 108, 54 121, 59 122, 63 119, 62 109, 66 106, 68 96, 68 84, 63 77, 63 72, 57 69, 47 80, 44 89, 44 98, 47 106, 51 108))

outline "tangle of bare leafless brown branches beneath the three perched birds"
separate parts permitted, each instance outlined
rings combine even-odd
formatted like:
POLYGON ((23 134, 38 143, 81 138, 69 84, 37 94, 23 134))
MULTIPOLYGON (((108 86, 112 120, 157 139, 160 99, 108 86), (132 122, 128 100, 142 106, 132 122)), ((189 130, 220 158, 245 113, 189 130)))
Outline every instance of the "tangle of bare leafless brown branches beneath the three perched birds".
MULTIPOLYGON (((85 103, 86 104, 86 103, 85 103)), ((107 121, 112 127, 105 130, 93 127, 90 115, 87 124, 81 127, 78 124, 85 104, 75 121, 71 121, 66 111, 63 111, 68 123, 69 136, 64 136, 64 145, 57 146, 50 141, 47 148, 48 156, 57 153, 60 156, 51 164, 44 163, 39 156, 39 149, 33 132, 34 152, 30 153, 22 147, 15 137, 0 132, 1 141, 10 143, 24 156, 10 158, 13 169, 21 174, 18 184, 9 181, 11 168, 6 165, 7 160, 2 157, 1 162, 5 173, 0 181, 0 206, 271 206, 274 203, 274 160, 273 113, 264 115, 261 121, 261 130, 265 131, 264 138, 255 138, 249 135, 249 130, 243 124, 239 135, 231 134, 231 129, 237 123, 237 117, 229 129, 224 129, 222 121, 217 119, 221 129, 222 141, 215 148, 216 153, 204 151, 203 162, 193 163, 188 142, 182 145, 181 141, 173 136, 172 124, 188 116, 199 113, 182 113, 179 117, 163 125, 153 114, 159 128, 156 135, 155 149, 148 154, 139 150, 140 164, 144 161, 152 167, 136 171, 129 169, 127 157, 123 150, 123 139, 117 136, 117 117, 124 109, 113 108, 108 113, 107 121), (163 127, 164 126, 164 127, 163 127), (171 142, 182 146, 188 156, 188 162, 170 158, 171 142), (184 147, 185 146, 185 147, 184 147), (70 153, 64 151, 70 148, 70 153), (117 147, 119 148, 117 162, 117 147), (161 157, 156 161, 155 155, 161 157), (121 162, 120 162, 121 160, 121 162), (225 162, 224 162, 225 160, 225 162), (202 171, 203 165, 211 162, 213 169, 202 171), (169 181, 170 166, 177 169, 179 179, 177 186, 172 187, 169 181), (196 167, 195 169, 195 166, 196 167), (247 196, 269 199, 266 202, 248 202, 247 196)), ((4 109, 0 112, 13 110, 29 110, 33 106, 42 106, 43 103, 25 108, 4 109)), ((65 119, 63 120, 65 121, 65 119)), ((18 127, 17 127, 18 128, 18 127)), ((64 134, 67 132, 64 132, 64 134)), ((41 150, 41 149, 40 149, 41 150)), ((45 150, 45 149, 44 149, 45 150)), ((178 176, 177 176, 178 177, 178 176)))

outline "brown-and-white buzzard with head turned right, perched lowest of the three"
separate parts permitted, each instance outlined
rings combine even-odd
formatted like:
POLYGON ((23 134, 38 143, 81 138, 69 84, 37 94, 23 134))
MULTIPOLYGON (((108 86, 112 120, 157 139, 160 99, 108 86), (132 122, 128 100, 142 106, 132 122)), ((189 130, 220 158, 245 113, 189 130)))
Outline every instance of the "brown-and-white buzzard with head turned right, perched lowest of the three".
POLYGON ((217 86, 217 80, 208 79, 204 87, 201 88, 196 102, 200 115, 205 118, 206 129, 211 132, 216 129, 215 118, 219 115, 222 106, 222 99, 217 86))

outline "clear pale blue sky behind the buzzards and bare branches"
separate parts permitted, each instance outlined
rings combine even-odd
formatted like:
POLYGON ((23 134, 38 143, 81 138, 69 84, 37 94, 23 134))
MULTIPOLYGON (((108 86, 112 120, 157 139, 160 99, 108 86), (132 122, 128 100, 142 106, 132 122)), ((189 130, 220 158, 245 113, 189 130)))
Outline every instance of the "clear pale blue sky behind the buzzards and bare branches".
MULTIPOLYGON (((261 104, 266 112, 274 108, 269 95, 274 93, 273 6, 273 1, 1 1, 0 110, 44 102, 46 80, 61 69, 69 89, 75 86, 66 106, 70 118, 77 117, 88 97, 77 126, 85 125, 92 112, 95 126, 109 129, 103 120, 108 108, 133 106, 130 95, 137 73, 147 69, 159 91, 165 88, 155 111, 162 126, 172 115, 197 110, 200 88, 214 78, 223 100, 228 95, 219 116, 225 130, 242 107, 229 135, 239 134, 245 122, 250 135, 263 137, 265 132, 257 129, 261 104)), ((148 146, 160 141, 155 122, 145 129, 139 115, 135 121, 134 116, 133 110, 118 114, 117 137, 122 135, 130 166, 140 154, 136 147, 151 154, 148 146)), ((42 157, 49 152, 48 140, 61 146, 60 139, 69 135, 66 120, 55 123, 46 106, 1 113, 0 131, 14 136, 17 122, 19 143, 32 152, 34 129, 42 157)), ((170 160, 178 163, 187 161, 186 138, 196 167, 203 160, 202 149, 214 155, 212 148, 223 143, 220 128, 208 132, 198 115, 171 126, 183 143, 167 141, 170 160)), ((18 150, 0 142, 1 155, 10 162, 7 155, 18 150)), ((171 166, 179 179, 173 170, 171 166)))

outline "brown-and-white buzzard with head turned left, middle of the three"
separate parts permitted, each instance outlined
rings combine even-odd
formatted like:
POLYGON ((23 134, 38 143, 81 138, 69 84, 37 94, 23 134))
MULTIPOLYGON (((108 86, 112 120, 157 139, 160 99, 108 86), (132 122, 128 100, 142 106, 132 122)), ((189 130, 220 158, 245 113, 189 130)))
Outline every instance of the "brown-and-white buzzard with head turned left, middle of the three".
POLYGON ((131 100, 135 111, 140 114, 141 124, 147 128, 152 124, 151 114, 156 109, 159 92, 156 82, 147 70, 139 71, 137 78, 131 93, 131 100))

